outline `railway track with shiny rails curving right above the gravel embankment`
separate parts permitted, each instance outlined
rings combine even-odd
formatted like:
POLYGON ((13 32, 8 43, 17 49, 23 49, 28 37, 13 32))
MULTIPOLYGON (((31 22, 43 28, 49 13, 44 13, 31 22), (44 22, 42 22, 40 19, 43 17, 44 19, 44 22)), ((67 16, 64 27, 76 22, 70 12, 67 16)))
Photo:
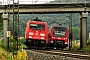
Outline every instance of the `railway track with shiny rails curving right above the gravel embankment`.
POLYGON ((50 55, 59 55, 59 56, 65 56, 65 57, 71 57, 71 58, 78 58, 78 59, 84 59, 84 60, 90 60, 90 52, 84 52, 84 51, 70 51, 70 50, 27 50, 28 52, 39 52, 44 54, 50 54, 50 55))

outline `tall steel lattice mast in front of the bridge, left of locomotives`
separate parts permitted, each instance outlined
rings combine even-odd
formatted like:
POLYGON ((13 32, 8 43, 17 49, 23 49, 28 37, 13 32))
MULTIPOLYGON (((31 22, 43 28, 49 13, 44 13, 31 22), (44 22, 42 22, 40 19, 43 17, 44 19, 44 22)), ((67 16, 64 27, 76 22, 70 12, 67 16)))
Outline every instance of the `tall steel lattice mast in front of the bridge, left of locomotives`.
POLYGON ((19 28, 19 0, 17 3, 14 2, 13 0, 13 55, 14 55, 14 50, 19 49, 20 46, 20 28, 19 28), (17 5, 17 6, 15 6, 17 5), (17 9, 17 10, 14 10, 17 9), (17 13, 17 14, 16 14, 17 13))

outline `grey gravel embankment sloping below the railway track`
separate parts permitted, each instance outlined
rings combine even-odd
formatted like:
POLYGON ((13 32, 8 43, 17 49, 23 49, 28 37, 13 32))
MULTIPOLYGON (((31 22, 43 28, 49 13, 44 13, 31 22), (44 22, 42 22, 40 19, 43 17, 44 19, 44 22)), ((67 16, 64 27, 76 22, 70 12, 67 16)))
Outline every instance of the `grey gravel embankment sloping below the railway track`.
POLYGON ((86 60, 27 50, 28 60, 86 60))

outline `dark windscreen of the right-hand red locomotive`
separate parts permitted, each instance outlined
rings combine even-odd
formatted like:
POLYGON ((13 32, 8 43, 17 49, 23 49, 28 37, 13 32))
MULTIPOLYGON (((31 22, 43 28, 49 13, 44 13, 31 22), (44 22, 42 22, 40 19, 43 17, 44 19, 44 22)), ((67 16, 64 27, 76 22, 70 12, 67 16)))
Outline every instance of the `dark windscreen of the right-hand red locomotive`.
POLYGON ((65 37, 66 36, 66 28, 54 27, 54 36, 65 37))

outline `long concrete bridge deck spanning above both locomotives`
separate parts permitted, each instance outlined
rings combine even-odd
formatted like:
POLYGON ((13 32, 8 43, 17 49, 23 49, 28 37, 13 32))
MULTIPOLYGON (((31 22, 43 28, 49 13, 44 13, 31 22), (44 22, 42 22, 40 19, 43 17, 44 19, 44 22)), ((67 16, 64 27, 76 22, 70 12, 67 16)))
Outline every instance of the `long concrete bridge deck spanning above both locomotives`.
MULTIPOLYGON (((0 13, 7 11, 7 6, 10 6, 10 13, 13 12, 13 5, 0 5, 0 13)), ((17 4, 14 4, 17 7, 17 4)), ((17 10, 15 8, 14 10, 17 10)), ((20 4, 20 13, 80 13, 82 11, 90 12, 90 3, 72 3, 72 4, 20 4)), ((17 12, 16 12, 17 13, 17 12)))

